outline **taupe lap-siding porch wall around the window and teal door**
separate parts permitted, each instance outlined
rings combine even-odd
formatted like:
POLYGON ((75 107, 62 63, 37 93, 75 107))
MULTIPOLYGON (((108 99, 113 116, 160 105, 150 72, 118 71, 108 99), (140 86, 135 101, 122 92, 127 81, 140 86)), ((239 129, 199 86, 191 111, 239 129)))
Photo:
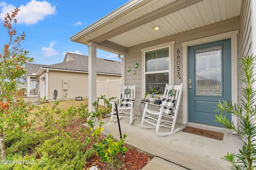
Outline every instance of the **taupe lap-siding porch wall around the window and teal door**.
MULTIPOLYGON (((216 35, 228 31, 233 31, 240 29, 240 18, 232 18, 230 20, 225 20, 222 22, 214 23, 212 25, 207 25, 205 27, 200 27, 197 29, 193 29, 191 31, 186 31, 184 33, 179 33, 176 35, 172 35, 169 37, 164 37, 162 39, 158 39, 156 41, 150 41, 148 43, 143 43, 134 47, 128 48, 128 54, 125 55, 124 61, 125 61, 125 84, 126 85, 132 85, 136 84, 136 102, 135 102, 135 115, 141 115, 140 112, 140 102, 142 97, 144 96, 144 91, 142 92, 142 79, 143 79, 143 74, 142 74, 142 52, 141 49, 152 47, 155 45, 160 45, 163 43, 168 43, 171 41, 175 41, 174 44, 174 84, 180 84, 179 82, 179 77, 181 78, 181 82, 187 83, 187 80, 183 80, 182 74, 183 74, 183 55, 182 55, 182 43, 194 39, 199 39, 203 37, 208 37, 211 35, 216 35), (177 71, 177 50, 179 49, 180 53, 180 76, 178 77, 178 71, 177 71), (133 71, 126 71, 128 67, 134 68, 134 64, 138 62, 140 64, 139 68, 136 69, 136 74, 134 75, 132 72, 133 71)), ((239 41, 239 40, 238 40, 239 41)), ((183 100, 183 98, 181 99, 183 100)), ((183 102, 180 102, 180 107, 179 107, 179 112, 178 112, 178 117, 177 117, 177 122, 182 123, 182 112, 183 112, 183 102)), ((143 106, 141 106, 142 111, 144 109, 143 106)))

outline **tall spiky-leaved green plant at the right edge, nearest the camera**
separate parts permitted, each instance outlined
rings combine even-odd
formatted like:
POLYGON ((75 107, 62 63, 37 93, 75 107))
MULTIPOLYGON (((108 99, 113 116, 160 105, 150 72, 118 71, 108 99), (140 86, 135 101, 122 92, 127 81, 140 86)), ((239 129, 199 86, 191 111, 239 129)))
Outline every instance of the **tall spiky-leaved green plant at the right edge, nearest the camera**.
POLYGON ((218 109, 220 115, 216 115, 217 121, 222 123, 228 129, 236 132, 243 138, 243 146, 238 154, 227 153, 224 160, 230 162, 233 170, 255 170, 256 168, 256 90, 253 84, 256 82, 254 70, 256 68, 256 57, 242 57, 242 71, 239 72, 240 80, 245 87, 241 89, 243 99, 242 105, 232 104, 232 102, 219 102, 218 109), (233 122, 226 119, 224 113, 232 113, 239 117, 238 128, 233 122))

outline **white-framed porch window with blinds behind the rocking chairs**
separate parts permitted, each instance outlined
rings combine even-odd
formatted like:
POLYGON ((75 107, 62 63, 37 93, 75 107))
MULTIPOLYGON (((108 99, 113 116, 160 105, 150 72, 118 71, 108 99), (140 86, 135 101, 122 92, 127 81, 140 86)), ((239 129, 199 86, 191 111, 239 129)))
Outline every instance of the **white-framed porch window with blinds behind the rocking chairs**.
POLYGON ((169 83, 169 47, 145 52, 145 92, 156 87, 164 92, 169 83))

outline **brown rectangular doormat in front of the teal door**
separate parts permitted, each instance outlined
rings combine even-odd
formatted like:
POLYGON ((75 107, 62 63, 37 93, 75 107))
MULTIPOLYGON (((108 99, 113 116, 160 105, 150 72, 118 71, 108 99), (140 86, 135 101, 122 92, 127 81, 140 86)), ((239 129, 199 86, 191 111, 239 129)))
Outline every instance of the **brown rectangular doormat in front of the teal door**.
POLYGON ((222 141, 222 139, 223 139, 223 133, 208 131, 208 130, 204 130, 204 129, 198 129, 195 127, 186 126, 182 129, 182 132, 191 133, 191 134, 199 135, 199 136, 203 136, 203 137, 208 137, 208 138, 212 138, 212 139, 216 139, 216 140, 220 140, 220 141, 222 141))

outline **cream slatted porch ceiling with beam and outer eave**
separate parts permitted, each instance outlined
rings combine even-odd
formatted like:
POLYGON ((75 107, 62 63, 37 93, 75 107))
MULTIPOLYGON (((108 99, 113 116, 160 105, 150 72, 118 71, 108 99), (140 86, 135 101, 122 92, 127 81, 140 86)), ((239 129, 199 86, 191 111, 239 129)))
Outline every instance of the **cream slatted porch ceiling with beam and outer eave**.
POLYGON ((126 53, 128 47, 240 16, 242 0, 131 0, 70 39, 126 53), (154 26, 160 26, 154 31, 154 26))

